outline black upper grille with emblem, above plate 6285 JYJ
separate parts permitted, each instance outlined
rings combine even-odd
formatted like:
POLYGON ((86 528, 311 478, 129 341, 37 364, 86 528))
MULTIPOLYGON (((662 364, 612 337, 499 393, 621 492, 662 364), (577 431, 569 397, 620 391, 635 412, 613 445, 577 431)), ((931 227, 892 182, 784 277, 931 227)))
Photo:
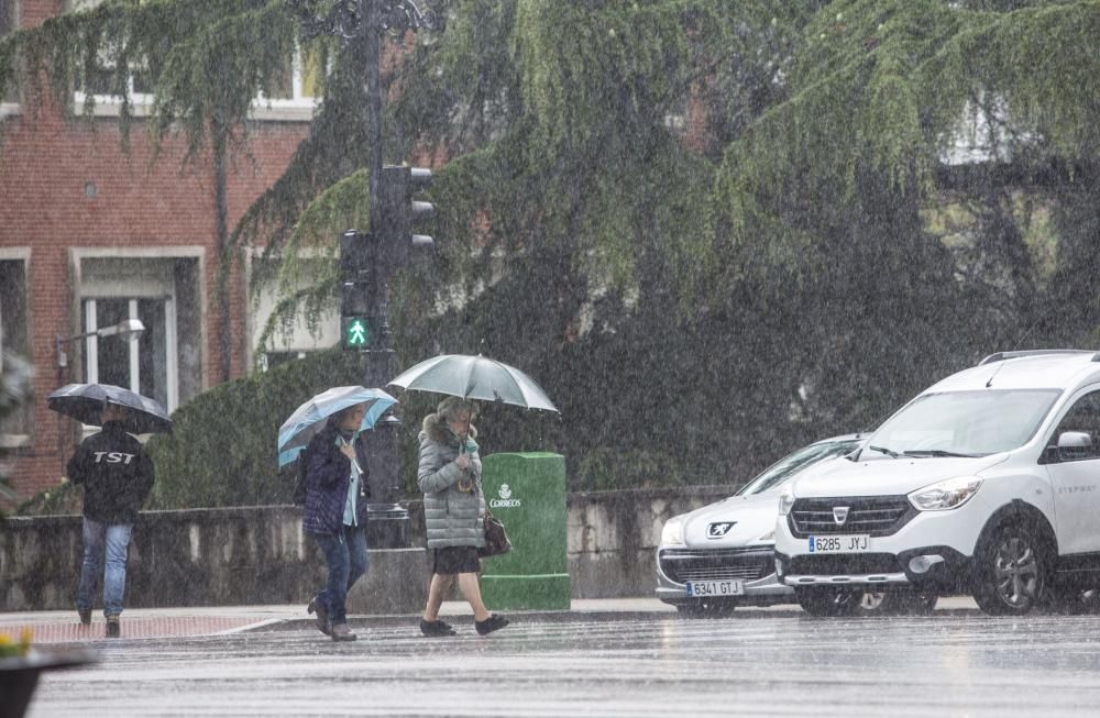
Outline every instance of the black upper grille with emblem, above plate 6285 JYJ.
POLYGON ((800 498, 791 507, 791 531, 799 538, 815 533, 869 533, 890 535, 916 516, 904 496, 800 498), (835 507, 848 507, 843 526, 833 517, 835 507))

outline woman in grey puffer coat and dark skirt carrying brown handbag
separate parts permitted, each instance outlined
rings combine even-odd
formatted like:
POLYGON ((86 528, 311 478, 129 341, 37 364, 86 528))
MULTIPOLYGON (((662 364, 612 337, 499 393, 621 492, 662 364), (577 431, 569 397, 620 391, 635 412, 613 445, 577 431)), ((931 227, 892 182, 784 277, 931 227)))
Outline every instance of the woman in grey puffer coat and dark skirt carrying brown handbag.
POLYGON ((504 628, 508 619, 490 614, 482 603, 477 549, 485 545, 485 497, 481 486, 481 457, 471 426, 474 405, 449 397, 436 413, 424 419, 417 484, 424 491, 428 548, 433 550, 428 605, 420 620, 425 636, 454 636, 439 620, 439 607, 455 576, 459 589, 474 609, 474 626, 482 636, 504 628))

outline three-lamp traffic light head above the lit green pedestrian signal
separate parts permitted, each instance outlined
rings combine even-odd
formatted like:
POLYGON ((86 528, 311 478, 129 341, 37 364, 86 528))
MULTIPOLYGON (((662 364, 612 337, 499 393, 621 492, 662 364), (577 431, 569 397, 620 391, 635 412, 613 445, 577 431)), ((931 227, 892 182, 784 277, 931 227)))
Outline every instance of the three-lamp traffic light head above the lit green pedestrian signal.
POLYGON ((432 239, 427 234, 415 234, 418 224, 422 224, 435 213, 431 202, 413 199, 413 195, 431 185, 431 170, 424 167, 398 167, 389 165, 382 168, 382 181, 378 188, 378 222, 371 220, 382 245, 387 268, 397 269, 408 264, 413 252, 422 252, 432 247, 432 239))

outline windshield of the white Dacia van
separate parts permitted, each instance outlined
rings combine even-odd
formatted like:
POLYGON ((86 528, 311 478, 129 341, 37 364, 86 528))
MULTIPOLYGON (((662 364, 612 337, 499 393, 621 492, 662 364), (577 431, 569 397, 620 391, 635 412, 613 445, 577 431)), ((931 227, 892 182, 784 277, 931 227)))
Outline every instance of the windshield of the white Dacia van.
POLYGON ((1025 444, 1057 389, 950 391, 919 397, 867 442, 860 459, 985 456, 1025 444))

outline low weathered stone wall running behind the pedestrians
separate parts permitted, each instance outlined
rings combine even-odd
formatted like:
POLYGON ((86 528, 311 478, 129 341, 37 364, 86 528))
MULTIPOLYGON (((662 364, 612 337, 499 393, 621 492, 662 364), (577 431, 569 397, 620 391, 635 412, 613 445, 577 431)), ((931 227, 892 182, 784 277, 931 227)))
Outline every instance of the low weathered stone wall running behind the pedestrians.
MULTIPOLYGON (((652 595, 653 550, 669 517, 729 487, 634 489, 569 497, 568 553, 575 598, 652 595)), ((353 612, 419 610, 430 564, 419 501, 408 504, 411 550, 372 550, 353 612)), ((0 526, 0 610, 72 608, 81 560, 78 516, 13 518, 0 526)), ((145 511, 130 548, 127 605, 306 603, 324 560, 293 506, 145 511)))

